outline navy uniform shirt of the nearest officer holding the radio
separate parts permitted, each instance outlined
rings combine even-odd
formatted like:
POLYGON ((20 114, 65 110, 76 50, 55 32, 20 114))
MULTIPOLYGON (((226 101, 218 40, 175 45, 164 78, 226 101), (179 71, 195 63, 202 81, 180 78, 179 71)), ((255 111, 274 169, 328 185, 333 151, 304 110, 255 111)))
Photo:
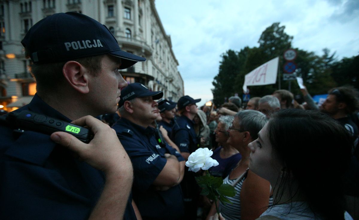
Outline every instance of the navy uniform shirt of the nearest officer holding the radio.
MULTIPOLYGON (((16 111, 22 110, 71 121, 37 95, 16 111)), ((49 135, 14 134, 0 125, 0 219, 88 219, 101 195, 104 174, 75 159, 49 135)), ((124 219, 136 219, 131 203, 124 219)))

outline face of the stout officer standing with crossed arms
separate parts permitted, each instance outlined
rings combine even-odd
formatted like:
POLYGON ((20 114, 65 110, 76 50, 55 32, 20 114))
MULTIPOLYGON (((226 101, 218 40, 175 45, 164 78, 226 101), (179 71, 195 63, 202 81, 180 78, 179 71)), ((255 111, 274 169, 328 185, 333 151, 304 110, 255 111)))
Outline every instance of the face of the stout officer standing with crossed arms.
POLYGON ((134 118, 141 121, 153 121, 159 115, 158 103, 152 99, 152 96, 137 97, 132 102, 134 118))

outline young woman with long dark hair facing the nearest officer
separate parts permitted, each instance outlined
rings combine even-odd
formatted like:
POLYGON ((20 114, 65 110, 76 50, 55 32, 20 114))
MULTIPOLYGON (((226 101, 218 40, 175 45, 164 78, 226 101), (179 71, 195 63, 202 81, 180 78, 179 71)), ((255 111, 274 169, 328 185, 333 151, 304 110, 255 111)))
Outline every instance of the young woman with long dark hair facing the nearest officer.
POLYGON ((249 168, 274 187, 274 205, 259 219, 352 219, 342 184, 352 144, 345 128, 325 114, 275 113, 248 145, 249 168))

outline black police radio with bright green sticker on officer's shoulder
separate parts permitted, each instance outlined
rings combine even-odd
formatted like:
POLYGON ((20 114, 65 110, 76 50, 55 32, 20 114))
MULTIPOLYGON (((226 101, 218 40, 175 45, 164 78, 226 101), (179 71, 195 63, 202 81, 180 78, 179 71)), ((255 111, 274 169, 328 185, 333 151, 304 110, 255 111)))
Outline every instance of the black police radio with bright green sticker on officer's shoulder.
POLYGON ((93 138, 92 132, 87 128, 28 110, 19 113, 10 112, 5 120, 10 127, 17 129, 15 131, 20 133, 24 130, 32 130, 50 135, 53 132, 62 131, 72 134, 84 143, 89 143, 93 138))

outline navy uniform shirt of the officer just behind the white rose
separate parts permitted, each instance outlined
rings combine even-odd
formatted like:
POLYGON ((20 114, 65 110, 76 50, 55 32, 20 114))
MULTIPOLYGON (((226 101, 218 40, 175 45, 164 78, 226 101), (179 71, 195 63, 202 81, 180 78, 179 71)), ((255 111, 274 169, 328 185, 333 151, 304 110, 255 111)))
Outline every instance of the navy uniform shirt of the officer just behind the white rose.
POLYGON ((181 152, 192 153, 198 148, 194 122, 182 115, 177 118, 172 128, 172 141, 180 148, 181 152))

